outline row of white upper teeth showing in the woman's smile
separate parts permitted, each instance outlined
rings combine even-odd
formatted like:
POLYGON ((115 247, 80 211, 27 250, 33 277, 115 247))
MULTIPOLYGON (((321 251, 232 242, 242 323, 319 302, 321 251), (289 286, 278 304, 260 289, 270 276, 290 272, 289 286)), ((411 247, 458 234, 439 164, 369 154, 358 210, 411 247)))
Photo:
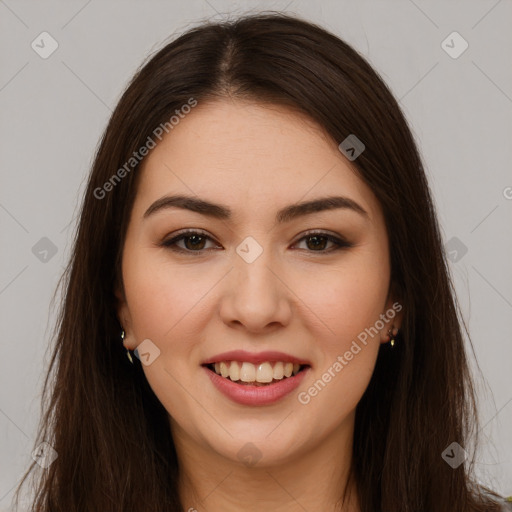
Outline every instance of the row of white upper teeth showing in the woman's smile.
POLYGON ((254 365, 244 361, 221 361, 214 364, 215 373, 232 381, 259 382, 268 384, 275 380, 297 375, 300 370, 298 363, 264 362, 254 365))

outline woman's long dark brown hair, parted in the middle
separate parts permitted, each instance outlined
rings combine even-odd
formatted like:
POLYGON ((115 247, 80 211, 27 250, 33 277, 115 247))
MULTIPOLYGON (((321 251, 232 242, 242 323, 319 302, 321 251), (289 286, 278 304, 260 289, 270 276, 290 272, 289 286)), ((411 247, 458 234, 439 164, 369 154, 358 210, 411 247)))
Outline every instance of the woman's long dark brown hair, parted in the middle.
MULTIPOLYGON (((352 475, 362 512, 498 510, 491 491, 475 483, 474 456, 456 469, 441 456, 452 442, 468 451, 471 441, 476 445, 477 410, 467 328, 407 121, 354 49, 280 13, 189 30, 138 70, 112 114, 60 283, 36 440, 48 442, 58 458, 37 475, 33 510, 183 510, 167 412, 119 337, 114 290, 122 284, 120 257, 139 167, 126 162, 191 98, 226 97, 294 108, 337 144, 355 134, 366 147, 354 164, 384 213, 391 282, 404 317, 393 350, 381 346, 356 410, 352 475), (123 166, 122 179, 113 181, 123 166)), ((34 469, 35 462, 17 499, 34 469)))

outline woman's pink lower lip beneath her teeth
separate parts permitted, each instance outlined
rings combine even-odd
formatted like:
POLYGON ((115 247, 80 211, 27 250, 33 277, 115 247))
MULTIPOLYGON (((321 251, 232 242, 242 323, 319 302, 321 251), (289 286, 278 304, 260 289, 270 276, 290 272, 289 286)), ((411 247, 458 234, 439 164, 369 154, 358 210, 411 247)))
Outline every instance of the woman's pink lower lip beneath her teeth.
POLYGON ((225 396, 242 405, 268 405, 273 404, 296 389, 310 367, 304 368, 297 375, 287 377, 274 384, 266 386, 250 386, 236 384, 230 379, 221 377, 203 366, 213 385, 225 396))

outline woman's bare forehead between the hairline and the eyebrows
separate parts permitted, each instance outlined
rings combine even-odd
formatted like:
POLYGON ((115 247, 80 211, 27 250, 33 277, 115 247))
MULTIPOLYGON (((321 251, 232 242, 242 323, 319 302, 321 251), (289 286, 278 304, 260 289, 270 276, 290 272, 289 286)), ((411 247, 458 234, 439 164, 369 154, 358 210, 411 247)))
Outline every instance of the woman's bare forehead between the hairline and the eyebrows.
POLYGON ((340 194, 370 217, 379 210, 335 141, 307 116, 277 105, 199 103, 151 151, 140 172, 136 205, 169 193, 197 194, 229 203, 243 216, 340 194))

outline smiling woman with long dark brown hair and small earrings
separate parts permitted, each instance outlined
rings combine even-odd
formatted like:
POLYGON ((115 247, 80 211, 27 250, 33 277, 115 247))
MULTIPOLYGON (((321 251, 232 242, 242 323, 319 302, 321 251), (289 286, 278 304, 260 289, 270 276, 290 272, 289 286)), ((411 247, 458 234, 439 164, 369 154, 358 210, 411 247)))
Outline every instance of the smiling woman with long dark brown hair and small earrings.
POLYGON ((140 69, 65 289, 34 510, 502 509, 418 150, 323 29, 204 24, 140 69))

